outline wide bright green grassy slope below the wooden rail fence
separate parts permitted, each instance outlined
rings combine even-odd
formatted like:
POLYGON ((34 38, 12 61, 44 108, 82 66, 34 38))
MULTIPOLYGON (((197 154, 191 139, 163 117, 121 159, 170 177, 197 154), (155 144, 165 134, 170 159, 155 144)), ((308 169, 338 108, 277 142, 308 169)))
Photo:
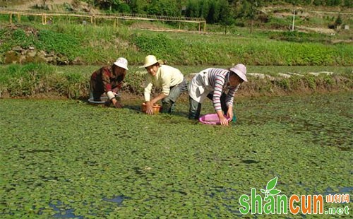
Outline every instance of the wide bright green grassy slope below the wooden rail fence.
MULTIPOLYGON (((282 32, 254 35, 195 34, 189 32, 152 32, 91 25, 1 25, 0 63, 16 61, 7 54, 13 47, 35 47, 54 53, 73 63, 107 64, 126 57, 130 64, 141 64, 147 54, 155 54, 169 64, 261 66, 352 66, 350 43, 322 41, 321 35, 282 32), (270 39, 272 38, 272 39, 270 39)), ((18 57, 17 57, 18 58, 18 57)), ((36 61, 30 59, 29 61, 36 61)), ((25 61, 17 60, 18 63, 25 61)))

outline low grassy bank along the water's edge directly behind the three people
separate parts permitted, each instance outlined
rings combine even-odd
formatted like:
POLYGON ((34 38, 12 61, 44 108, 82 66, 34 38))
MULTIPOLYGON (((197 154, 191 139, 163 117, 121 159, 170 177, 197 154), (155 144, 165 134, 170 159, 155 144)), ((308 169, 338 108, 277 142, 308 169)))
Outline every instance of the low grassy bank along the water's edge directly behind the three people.
MULTIPOLYGON (((208 66, 177 66, 184 75, 208 66)), ((225 67, 225 66, 220 66, 225 67)), ((11 64, 0 66, 0 97, 68 97, 86 99, 90 74, 100 66, 52 66, 47 64, 11 64)), ((132 95, 143 94, 144 69, 129 66, 122 90, 132 95)), ((328 66, 248 66, 249 82, 241 85, 239 95, 286 95, 353 89, 351 67, 328 66), (327 71, 318 76, 310 72, 327 71), (289 78, 279 73, 292 73, 289 78), (258 78, 251 73, 265 73, 258 78), (297 74, 298 73, 298 74, 297 74), (300 74, 300 75, 299 75, 300 74)))

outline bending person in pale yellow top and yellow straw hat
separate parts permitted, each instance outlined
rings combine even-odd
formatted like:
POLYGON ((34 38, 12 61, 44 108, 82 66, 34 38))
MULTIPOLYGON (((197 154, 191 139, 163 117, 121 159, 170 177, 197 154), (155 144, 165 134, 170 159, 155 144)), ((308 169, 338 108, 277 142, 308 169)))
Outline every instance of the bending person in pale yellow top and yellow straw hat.
POLYGON ((153 114, 152 107, 159 100, 162 100, 162 112, 173 112, 177 98, 187 90, 184 75, 179 69, 165 65, 162 60, 157 60, 153 55, 145 57, 145 63, 140 68, 145 68, 148 72, 144 91, 146 113, 153 114), (151 99, 153 85, 162 88, 162 92, 151 99))

